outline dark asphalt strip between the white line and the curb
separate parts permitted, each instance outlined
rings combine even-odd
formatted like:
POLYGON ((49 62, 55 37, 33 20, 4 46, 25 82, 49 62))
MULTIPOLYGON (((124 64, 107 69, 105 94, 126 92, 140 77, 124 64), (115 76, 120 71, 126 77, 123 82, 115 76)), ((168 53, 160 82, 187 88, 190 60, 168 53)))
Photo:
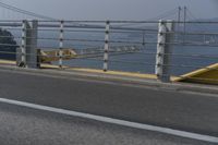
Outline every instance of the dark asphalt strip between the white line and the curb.
POLYGON ((218 95, 0 72, 0 97, 218 136, 218 95))

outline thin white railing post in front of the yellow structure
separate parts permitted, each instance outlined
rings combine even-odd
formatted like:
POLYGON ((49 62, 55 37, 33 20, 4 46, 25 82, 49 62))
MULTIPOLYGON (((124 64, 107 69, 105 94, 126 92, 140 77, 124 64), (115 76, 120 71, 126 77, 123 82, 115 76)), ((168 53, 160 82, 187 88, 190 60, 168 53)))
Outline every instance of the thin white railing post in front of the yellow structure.
POLYGON ((59 39, 59 68, 63 68, 63 27, 64 22, 60 23, 60 39, 59 39))

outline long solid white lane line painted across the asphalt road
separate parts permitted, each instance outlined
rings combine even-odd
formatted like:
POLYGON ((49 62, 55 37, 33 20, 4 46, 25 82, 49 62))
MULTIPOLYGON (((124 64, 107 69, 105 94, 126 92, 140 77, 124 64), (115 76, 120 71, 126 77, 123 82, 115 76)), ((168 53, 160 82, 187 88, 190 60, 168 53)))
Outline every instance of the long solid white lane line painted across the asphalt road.
POLYGON ((100 121, 100 122, 118 124, 118 125, 123 125, 123 126, 129 126, 129 128, 134 128, 134 129, 155 131, 155 132, 175 135, 175 136, 180 136, 180 137, 186 137, 186 138, 198 140, 198 141, 210 142, 210 143, 218 143, 218 137, 216 137, 216 136, 209 136, 209 135, 191 133, 191 132, 179 131, 179 130, 172 130, 172 129, 168 129, 168 128, 155 126, 155 125, 143 124, 143 123, 135 123, 135 122, 130 122, 130 121, 124 121, 124 120, 119 120, 119 119, 112 119, 112 118, 107 118, 107 117, 89 114, 89 113, 76 112, 76 111, 59 109, 59 108, 41 106, 41 105, 35 105, 35 104, 17 101, 17 100, 12 100, 12 99, 5 99, 5 98, 0 98, 0 102, 21 106, 21 107, 27 107, 27 108, 37 109, 37 110, 50 111, 50 112, 56 112, 56 113, 61 113, 61 114, 68 114, 68 116, 72 116, 72 117, 80 117, 80 118, 84 118, 84 119, 90 119, 90 120, 96 120, 96 121, 100 121))

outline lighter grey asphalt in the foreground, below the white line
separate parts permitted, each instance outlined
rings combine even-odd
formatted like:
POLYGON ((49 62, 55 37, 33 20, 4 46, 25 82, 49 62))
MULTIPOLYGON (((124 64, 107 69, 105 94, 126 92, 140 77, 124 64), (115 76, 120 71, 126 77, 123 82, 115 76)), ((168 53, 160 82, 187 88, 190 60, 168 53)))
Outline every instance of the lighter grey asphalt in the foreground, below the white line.
POLYGON ((214 145, 0 104, 1 145, 214 145))

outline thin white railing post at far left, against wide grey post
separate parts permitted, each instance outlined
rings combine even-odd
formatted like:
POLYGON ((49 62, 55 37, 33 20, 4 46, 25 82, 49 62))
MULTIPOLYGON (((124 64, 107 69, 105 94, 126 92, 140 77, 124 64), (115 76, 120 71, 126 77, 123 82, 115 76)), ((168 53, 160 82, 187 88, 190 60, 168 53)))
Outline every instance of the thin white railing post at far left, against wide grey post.
POLYGON ((27 34, 27 21, 22 22, 22 41, 21 41, 21 63, 20 67, 26 67, 26 34, 27 34))

